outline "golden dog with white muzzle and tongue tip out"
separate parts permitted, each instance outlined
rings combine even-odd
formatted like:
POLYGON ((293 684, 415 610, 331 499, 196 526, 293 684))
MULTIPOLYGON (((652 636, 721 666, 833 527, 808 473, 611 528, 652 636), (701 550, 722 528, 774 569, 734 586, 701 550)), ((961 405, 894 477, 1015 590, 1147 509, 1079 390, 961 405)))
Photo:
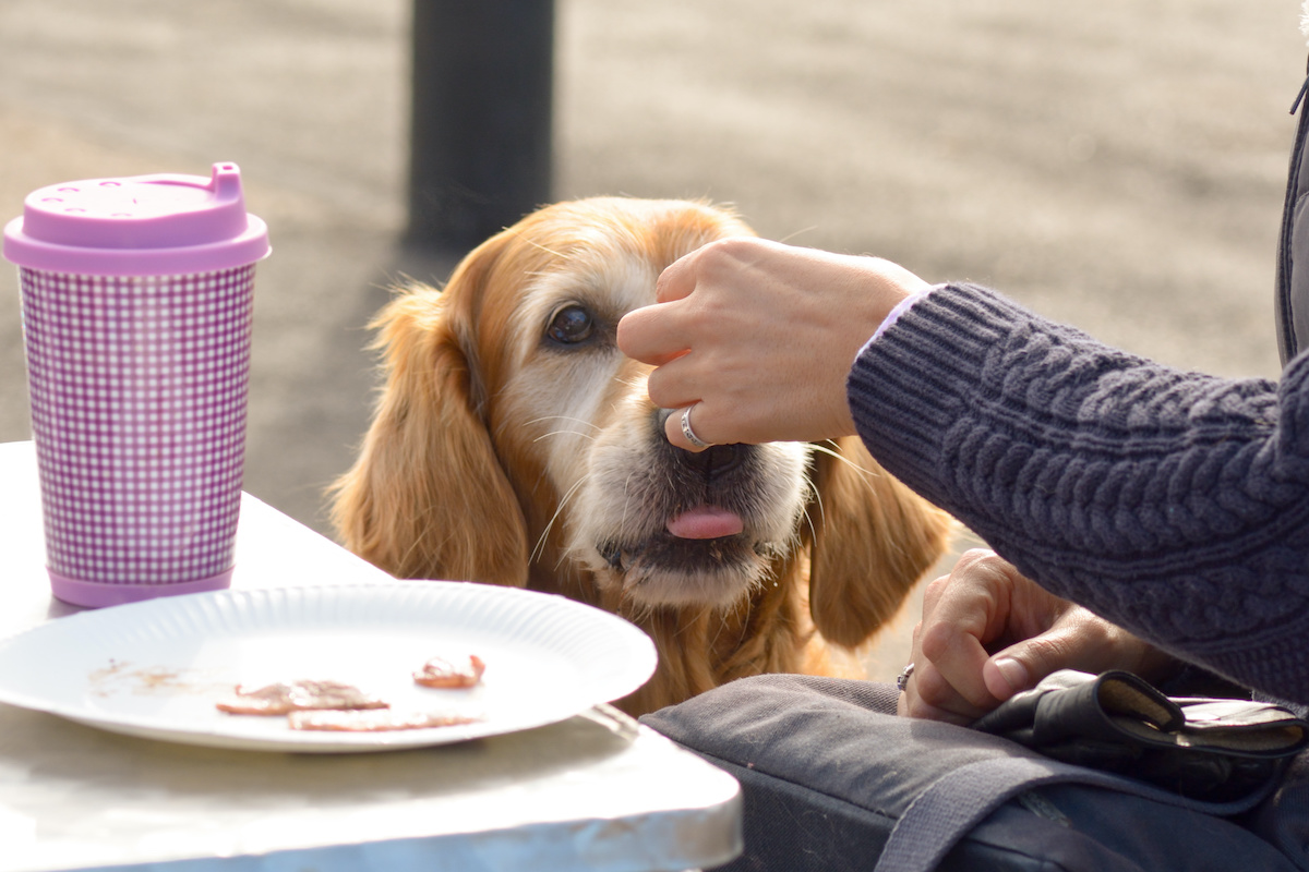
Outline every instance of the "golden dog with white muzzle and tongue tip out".
POLYGON ((632 714, 764 672, 846 673, 942 553, 952 522, 857 439, 669 444, 649 369, 615 345, 660 272, 753 231, 700 203, 546 207, 444 290, 378 315, 385 384, 334 486, 343 544, 401 578, 563 594, 654 641, 632 714), (842 665, 842 663, 847 665, 842 665))

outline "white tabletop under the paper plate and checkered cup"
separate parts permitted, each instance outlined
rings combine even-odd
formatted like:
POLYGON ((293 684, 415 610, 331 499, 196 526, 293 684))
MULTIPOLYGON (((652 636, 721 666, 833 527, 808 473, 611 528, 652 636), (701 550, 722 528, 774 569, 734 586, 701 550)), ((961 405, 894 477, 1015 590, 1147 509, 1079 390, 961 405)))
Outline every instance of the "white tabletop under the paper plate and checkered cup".
MULTIPOLYGON (((30 443, 0 444, 0 635, 50 596, 30 443)), ((249 494, 233 587, 389 577, 249 494)), ((0 872, 653 872, 741 850, 733 778, 609 706, 420 750, 279 754, 0 705, 0 872)))

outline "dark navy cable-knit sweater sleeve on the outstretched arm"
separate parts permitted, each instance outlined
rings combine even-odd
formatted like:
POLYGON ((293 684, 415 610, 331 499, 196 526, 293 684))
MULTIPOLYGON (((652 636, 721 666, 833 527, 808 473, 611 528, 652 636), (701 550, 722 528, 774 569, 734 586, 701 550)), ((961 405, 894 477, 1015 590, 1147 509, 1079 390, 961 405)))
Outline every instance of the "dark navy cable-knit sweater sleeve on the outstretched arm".
POLYGON ((948 285, 848 397, 878 461, 1024 574, 1309 702, 1309 360, 1280 387, 1182 373, 948 285))

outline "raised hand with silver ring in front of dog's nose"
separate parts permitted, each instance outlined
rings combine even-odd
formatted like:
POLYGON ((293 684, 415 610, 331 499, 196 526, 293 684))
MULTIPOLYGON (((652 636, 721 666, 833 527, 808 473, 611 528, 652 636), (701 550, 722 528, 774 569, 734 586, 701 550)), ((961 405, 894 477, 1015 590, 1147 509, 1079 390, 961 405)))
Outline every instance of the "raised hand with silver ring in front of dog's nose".
MULTIPOLYGON (((664 271, 657 303, 619 322, 618 346, 658 367, 651 400, 694 407, 704 442, 831 439, 855 433, 846 377, 859 349, 899 301, 925 288, 878 258, 723 239, 664 271)), ((665 431, 695 450, 679 414, 665 431)))

